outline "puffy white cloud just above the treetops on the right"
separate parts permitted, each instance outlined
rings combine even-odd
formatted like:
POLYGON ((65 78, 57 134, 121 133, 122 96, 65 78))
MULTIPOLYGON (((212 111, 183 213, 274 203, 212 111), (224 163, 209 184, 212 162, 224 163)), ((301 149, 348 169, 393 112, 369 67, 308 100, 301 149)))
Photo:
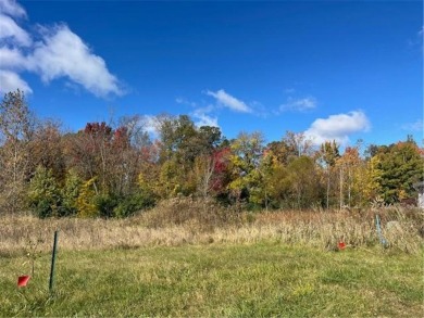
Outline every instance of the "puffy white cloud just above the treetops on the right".
POLYGON ((331 115, 328 118, 319 118, 312 123, 304 135, 315 144, 332 140, 339 144, 347 144, 349 135, 367 131, 370 127, 366 115, 361 111, 354 111, 348 114, 331 115))

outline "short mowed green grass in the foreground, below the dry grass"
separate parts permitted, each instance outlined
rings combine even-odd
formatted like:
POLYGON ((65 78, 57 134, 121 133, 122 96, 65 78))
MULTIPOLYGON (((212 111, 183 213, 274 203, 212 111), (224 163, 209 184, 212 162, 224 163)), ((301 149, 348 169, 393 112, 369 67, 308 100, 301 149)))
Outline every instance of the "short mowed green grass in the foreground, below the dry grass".
POLYGON ((275 243, 60 251, 28 274, 0 258, 1 316, 422 317, 423 258, 374 247, 321 251, 275 243))

